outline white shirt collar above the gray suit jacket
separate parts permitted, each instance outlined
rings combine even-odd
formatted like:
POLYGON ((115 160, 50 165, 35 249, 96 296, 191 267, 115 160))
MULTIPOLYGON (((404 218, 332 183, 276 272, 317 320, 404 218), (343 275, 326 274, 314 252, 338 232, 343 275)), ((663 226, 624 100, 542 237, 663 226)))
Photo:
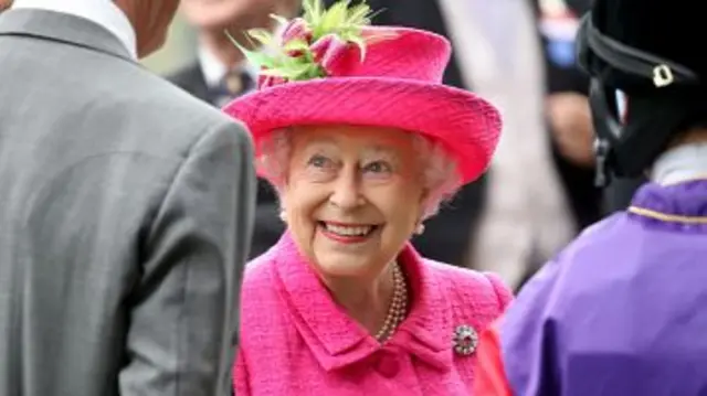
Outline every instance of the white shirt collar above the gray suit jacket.
POLYGON ((112 0, 14 0, 12 8, 41 9, 87 19, 113 33, 137 60, 135 29, 112 0))

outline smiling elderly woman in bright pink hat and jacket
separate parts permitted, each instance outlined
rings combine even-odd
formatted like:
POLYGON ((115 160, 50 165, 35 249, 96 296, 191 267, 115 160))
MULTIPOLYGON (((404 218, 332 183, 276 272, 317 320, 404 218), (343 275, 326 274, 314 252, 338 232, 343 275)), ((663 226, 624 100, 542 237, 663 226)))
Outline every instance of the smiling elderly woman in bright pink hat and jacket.
POLYGON ((250 127, 287 224, 246 269, 235 392, 468 395, 477 333, 511 296, 409 239, 484 172, 498 113, 441 85, 443 38, 305 6, 284 50, 246 52, 260 87, 224 109, 250 127))

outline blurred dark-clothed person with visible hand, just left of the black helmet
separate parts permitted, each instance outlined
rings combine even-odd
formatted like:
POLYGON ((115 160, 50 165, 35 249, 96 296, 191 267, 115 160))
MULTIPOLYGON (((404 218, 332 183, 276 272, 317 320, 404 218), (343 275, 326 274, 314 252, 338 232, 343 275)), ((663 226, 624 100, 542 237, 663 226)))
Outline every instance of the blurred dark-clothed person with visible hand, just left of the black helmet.
POLYGON ((594 133, 587 100, 589 82, 576 67, 573 45, 577 17, 588 10, 590 1, 568 0, 568 7, 563 7, 561 1, 539 0, 538 6, 540 31, 546 38, 550 61, 549 89, 556 92, 548 98, 547 108, 558 149, 555 151, 561 153, 558 170, 569 182, 567 193, 572 196, 570 202, 578 214, 580 228, 584 228, 599 220, 599 214, 604 216, 629 207, 633 194, 646 178, 612 178, 605 185, 590 182, 594 178, 594 133), (576 165, 568 165, 563 158, 576 165), (572 180, 577 182, 572 183, 572 180))

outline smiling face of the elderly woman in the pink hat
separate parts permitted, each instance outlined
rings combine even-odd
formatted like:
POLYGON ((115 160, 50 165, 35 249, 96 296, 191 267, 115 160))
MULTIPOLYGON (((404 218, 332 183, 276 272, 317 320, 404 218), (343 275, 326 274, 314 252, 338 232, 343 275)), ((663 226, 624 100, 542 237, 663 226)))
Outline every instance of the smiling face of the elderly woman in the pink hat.
POLYGON ((412 135, 326 126, 292 131, 282 200, 295 242, 326 277, 377 277, 410 238, 424 191, 412 135))

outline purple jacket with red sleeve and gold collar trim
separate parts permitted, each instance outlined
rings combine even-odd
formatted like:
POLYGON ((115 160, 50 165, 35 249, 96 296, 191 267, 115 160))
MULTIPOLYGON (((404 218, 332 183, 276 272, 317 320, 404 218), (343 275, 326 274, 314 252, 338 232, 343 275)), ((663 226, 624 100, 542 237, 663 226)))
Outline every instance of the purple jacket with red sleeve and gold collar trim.
POLYGON ((478 396, 707 395, 707 181, 646 184, 585 231, 478 357, 478 396))

